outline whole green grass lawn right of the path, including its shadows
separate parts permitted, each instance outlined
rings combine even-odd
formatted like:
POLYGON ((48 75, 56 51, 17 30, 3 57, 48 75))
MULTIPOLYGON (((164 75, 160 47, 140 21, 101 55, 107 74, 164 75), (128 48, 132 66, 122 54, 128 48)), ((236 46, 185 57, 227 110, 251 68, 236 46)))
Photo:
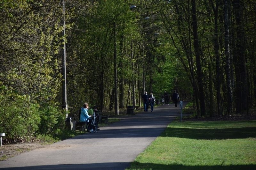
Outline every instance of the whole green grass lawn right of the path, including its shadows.
POLYGON ((256 121, 174 121, 129 169, 256 169, 256 121))

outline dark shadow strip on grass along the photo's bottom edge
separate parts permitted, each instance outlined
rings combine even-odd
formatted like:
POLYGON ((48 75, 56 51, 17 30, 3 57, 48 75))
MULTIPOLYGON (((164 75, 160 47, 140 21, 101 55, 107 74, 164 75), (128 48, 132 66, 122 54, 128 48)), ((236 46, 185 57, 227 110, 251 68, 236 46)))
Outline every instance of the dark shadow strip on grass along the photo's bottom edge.
POLYGON ((215 165, 215 166, 185 166, 185 165, 178 165, 178 164, 171 164, 171 165, 163 165, 163 164, 153 164, 153 163, 139 163, 139 162, 132 162, 131 167, 129 169, 161 169, 161 170, 169 170, 169 169, 189 169, 189 170, 211 170, 211 169, 256 169, 256 165, 215 165))

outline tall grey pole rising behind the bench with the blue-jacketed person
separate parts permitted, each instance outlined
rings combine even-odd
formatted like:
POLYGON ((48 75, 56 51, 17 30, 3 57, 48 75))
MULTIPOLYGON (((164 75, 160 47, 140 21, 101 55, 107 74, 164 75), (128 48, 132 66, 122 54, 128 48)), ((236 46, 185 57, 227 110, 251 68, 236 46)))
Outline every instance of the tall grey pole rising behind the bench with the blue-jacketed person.
MULTIPOLYGON (((68 110, 68 103, 67 103, 67 78, 66 78, 66 43, 65 43, 65 0, 63 0, 63 30, 62 30, 62 44, 61 44, 61 51, 62 51, 62 108, 68 110)), ((66 114, 68 117, 68 114, 66 114)))

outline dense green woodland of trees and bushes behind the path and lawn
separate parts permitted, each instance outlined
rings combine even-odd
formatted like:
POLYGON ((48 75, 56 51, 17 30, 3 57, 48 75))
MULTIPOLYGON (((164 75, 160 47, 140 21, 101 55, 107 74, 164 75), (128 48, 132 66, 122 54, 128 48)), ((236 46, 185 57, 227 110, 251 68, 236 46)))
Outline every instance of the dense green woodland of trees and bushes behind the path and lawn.
POLYGON ((254 0, 0 0, 0 132, 58 134, 84 102, 118 115, 144 91, 249 114, 255 17, 254 0))

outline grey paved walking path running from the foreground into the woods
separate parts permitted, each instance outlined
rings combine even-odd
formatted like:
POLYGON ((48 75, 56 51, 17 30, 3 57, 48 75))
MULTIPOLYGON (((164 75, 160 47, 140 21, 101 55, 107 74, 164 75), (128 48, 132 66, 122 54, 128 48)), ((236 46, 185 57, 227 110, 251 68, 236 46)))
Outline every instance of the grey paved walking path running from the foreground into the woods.
POLYGON ((121 121, 101 127, 97 133, 86 133, 0 161, 0 169, 124 170, 177 116, 180 108, 174 104, 159 105, 154 112, 122 116, 121 121))

